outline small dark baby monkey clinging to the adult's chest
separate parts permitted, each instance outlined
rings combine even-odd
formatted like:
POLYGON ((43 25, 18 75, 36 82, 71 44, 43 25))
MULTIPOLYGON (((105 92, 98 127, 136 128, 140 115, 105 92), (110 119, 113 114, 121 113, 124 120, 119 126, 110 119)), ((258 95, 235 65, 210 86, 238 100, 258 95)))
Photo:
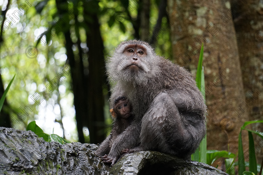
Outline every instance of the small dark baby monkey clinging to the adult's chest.
MULTIPOLYGON (((116 138, 131 124, 133 120, 131 110, 131 103, 125 96, 118 97, 114 100, 113 108, 110 109, 111 115, 115 118, 111 133, 95 152, 101 157, 103 162, 110 163, 112 161, 108 158, 108 154, 116 138)), ((129 149, 123 149, 121 153, 126 153, 128 151, 129 149)))

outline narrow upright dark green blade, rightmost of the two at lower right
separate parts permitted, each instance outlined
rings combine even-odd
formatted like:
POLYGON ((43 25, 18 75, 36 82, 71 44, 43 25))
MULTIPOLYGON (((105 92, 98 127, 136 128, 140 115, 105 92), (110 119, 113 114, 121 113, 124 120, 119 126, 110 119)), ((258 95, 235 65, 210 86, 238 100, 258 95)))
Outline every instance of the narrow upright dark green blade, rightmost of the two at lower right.
POLYGON ((248 140, 249 140, 249 171, 257 174, 257 162, 255 156, 254 139, 250 131, 248 131, 248 140))

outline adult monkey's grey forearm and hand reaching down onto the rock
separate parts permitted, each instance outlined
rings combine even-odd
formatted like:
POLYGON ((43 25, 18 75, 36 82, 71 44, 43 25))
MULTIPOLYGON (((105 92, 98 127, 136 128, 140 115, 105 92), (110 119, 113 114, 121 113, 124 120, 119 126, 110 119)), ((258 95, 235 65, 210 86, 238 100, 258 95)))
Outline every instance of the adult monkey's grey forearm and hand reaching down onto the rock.
POLYGON ((123 150, 135 147, 139 142, 141 131, 141 122, 133 121, 120 135, 117 136, 111 147, 109 155, 104 159, 104 162, 114 165, 118 158, 123 153, 123 150))

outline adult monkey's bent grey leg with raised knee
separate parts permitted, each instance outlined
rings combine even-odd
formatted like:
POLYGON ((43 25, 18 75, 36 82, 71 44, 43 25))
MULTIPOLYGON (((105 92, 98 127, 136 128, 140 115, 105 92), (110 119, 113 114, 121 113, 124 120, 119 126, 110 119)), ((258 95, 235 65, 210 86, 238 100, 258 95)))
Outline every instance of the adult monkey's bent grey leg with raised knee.
POLYGON ((204 128, 204 122, 192 126, 186 115, 198 117, 184 115, 168 93, 158 94, 142 118, 141 145, 129 152, 153 150, 189 158, 203 138, 199 127, 204 128))

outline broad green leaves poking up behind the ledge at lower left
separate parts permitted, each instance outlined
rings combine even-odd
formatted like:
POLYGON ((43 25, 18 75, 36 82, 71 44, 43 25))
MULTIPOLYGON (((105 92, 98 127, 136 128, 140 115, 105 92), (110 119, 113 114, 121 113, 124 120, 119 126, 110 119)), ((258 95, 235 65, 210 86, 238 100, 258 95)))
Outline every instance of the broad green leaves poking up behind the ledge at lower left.
POLYGON ((33 131, 37 136, 43 137, 46 142, 59 142, 60 144, 70 143, 70 141, 56 135, 56 134, 46 134, 44 131, 36 124, 36 121, 31 121, 27 126, 27 131, 33 131))

